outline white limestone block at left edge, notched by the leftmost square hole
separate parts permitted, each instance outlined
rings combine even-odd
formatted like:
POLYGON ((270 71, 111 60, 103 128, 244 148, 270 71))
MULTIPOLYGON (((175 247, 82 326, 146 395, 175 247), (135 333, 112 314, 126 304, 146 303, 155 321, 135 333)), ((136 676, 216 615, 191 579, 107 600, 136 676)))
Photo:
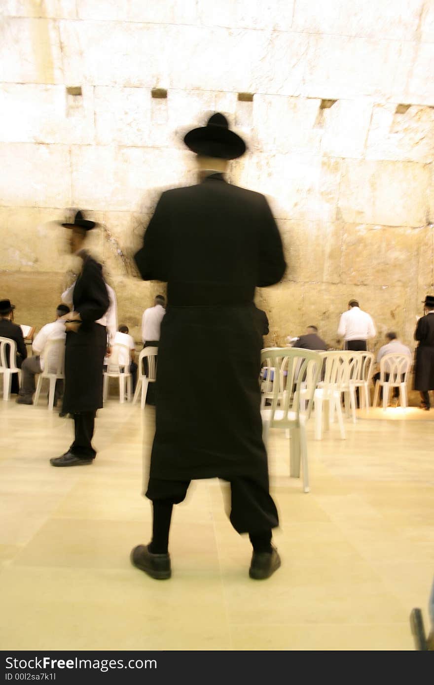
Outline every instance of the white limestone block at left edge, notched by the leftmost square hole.
POLYGON ((3 84, 0 111, 4 142, 92 143, 93 88, 84 86, 80 106, 68 109, 64 86, 3 84))

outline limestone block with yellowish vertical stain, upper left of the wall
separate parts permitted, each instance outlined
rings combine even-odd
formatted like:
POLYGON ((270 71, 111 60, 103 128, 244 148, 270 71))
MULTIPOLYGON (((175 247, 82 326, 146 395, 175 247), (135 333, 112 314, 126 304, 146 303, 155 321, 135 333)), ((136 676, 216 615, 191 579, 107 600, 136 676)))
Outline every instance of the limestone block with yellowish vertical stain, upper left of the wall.
POLYGON ((0 24, 0 82, 63 83, 56 21, 5 18, 0 24))

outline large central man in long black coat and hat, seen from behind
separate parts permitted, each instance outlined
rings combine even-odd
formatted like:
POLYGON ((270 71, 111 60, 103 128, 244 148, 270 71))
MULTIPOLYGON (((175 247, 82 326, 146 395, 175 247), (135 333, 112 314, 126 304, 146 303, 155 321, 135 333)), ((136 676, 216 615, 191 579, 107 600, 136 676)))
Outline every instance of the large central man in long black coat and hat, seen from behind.
POLYGON ((262 440, 262 338, 253 299, 256 286, 285 273, 282 241, 265 197, 219 173, 245 151, 226 118, 214 114, 184 142, 198 155, 202 183, 161 195, 135 256, 143 279, 167 282, 168 306, 146 493, 152 542, 135 547, 132 562, 154 578, 170 577, 173 503, 184 499, 191 479, 219 477, 230 482, 232 525, 250 534, 250 576, 265 578, 280 558, 271 544, 278 514, 262 440))

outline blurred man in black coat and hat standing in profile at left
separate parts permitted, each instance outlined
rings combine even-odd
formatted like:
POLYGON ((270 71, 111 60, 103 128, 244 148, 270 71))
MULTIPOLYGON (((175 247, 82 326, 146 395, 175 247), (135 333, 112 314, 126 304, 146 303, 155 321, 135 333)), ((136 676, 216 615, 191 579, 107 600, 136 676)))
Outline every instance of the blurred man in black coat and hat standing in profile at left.
POLYGON ((73 223, 62 223, 70 229, 71 253, 82 259, 82 271, 75 282, 73 311, 65 314, 65 382, 62 414, 74 417, 75 439, 60 457, 50 459, 51 466, 91 464, 96 456, 92 446, 95 415, 102 407, 103 365, 107 349, 106 327, 97 323, 109 306, 108 292, 98 264, 84 249, 87 232, 95 227, 82 212, 73 223))

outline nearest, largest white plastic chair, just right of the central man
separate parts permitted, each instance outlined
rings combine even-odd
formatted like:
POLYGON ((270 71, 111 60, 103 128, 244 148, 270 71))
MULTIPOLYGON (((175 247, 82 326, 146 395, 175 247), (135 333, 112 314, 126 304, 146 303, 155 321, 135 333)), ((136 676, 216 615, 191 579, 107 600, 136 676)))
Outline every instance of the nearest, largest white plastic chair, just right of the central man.
POLYGON ((261 357, 269 372, 274 369, 272 406, 261 411, 264 442, 267 443, 270 428, 289 429, 290 475, 300 477, 301 464, 303 490, 309 493, 306 421, 311 415, 313 394, 320 377, 320 355, 293 347, 264 349, 261 357))

